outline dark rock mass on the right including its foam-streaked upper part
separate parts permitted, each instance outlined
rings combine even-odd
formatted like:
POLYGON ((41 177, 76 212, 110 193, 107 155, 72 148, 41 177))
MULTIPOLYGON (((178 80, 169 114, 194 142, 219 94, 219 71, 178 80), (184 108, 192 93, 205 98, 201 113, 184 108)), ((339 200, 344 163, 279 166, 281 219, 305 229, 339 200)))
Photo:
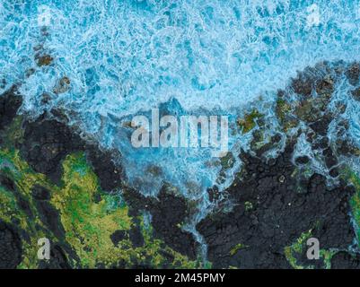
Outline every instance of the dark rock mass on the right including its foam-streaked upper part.
MULTIPOLYGON (((359 80, 358 64, 346 69, 343 65, 324 62, 306 68, 289 89, 278 92, 277 116, 288 133, 285 149, 275 158, 266 157, 265 152, 276 148, 278 141, 264 144, 264 130, 255 131, 252 155, 241 153, 241 172, 225 190, 233 209, 209 214, 198 224, 215 267, 288 268, 295 259, 302 266, 324 268, 323 258, 312 262, 304 254, 294 258, 285 254, 285 247, 309 230, 323 249, 345 250, 354 243, 349 201, 356 188, 340 178, 344 161, 339 158, 357 156, 358 151, 347 137, 347 121, 336 120, 347 106, 338 103, 335 111, 329 108, 342 73, 351 85, 359 80), (335 143, 328 138, 330 126, 337 130, 335 143), (307 154, 294 157, 302 135, 314 154, 312 160, 307 154), (312 161, 323 167, 321 174, 312 170, 312 161)), ((356 265, 351 252, 344 251, 334 260, 337 265, 356 265)))

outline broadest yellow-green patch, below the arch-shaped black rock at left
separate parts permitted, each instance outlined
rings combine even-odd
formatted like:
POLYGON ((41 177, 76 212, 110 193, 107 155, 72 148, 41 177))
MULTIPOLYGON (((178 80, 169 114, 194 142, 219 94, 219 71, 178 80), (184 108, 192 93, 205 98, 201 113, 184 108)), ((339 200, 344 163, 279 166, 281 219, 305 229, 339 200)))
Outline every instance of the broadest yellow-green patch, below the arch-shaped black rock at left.
MULTIPOLYGON (((60 211, 66 241, 86 267, 115 263, 124 254, 121 248, 113 247, 110 235, 115 230, 130 229, 127 206, 114 209, 109 196, 101 198, 99 203, 93 201, 99 185, 83 154, 67 156, 63 167, 64 187, 54 193, 51 202, 60 211)), ((125 246, 129 248, 129 242, 124 242, 125 246)))

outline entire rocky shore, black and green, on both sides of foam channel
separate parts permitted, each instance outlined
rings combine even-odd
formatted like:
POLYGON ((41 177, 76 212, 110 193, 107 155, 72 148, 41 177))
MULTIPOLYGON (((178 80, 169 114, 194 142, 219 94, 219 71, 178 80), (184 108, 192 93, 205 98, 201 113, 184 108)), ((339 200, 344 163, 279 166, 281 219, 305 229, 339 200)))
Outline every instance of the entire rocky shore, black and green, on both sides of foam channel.
MULTIPOLYGON (((191 203, 167 186, 157 198, 127 187, 113 161, 119 153, 83 140, 57 110, 33 121, 19 116, 22 97, 13 87, 0 96, 0 268, 360 268, 360 180, 344 161, 360 152, 346 120, 334 123, 335 141, 328 137, 338 118, 330 109, 337 81, 346 77, 357 99, 359 76, 357 63, 342 62, 300 73, 278 91, 279 133, 268 143, 266 124, 241 121, 253 133, 251 151, 241 152, 226 199, 209 190, 218 209, 197 226, 205 265, 198 242, 182 229, 191 203), (294 158, 301 137, 325 173, 312 170, 305 154, 294 158), (280 142, 285 147, 269 158, 280 142), (222 208, 229 203, 230 210, 222 208), (51 239, 54 260, 35 258, 39 236, 51 239), (320 241, 316 262, 305 256, 310 237, 320 241)), ((345 110, 338 102, 336 113, 345 110)))

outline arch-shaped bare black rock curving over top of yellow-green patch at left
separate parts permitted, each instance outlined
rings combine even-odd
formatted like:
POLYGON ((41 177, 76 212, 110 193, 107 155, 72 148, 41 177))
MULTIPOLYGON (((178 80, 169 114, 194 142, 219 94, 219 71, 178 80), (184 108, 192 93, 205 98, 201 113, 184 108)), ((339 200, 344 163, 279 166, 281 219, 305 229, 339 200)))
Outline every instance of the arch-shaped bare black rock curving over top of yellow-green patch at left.
MULTIPOLYGON (((46 115, 35 121, 25 121, 24 141, 20 144, 22 157, 31 167, 44 173, 59 184, 62 161, 67 154, 83 151, 100 180, 101 188, 111 191, 121 186, 123 172, 113 161, 113 152, 101 151, 93 143, 85 141, 69 126, 46 115)), ((119 154, 118 154, 119 157, 119 154)))

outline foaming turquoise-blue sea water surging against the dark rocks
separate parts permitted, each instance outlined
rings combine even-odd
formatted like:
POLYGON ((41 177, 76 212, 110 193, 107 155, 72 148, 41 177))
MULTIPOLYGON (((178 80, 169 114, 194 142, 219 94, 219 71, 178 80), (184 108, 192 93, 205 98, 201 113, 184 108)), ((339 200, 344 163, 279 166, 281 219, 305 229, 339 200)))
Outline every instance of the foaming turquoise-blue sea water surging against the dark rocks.
MULTIPOLYGON (((0 27, 1 91, 20 83, 23 112, 65 109, 72 124, 122 152, 130 185, 155 195, 169 182, 202 198, 204 211, 206 188, 220 170, 209 163, 211 151, 134 149, 122 118, 162 103, 172 114, 235 118, 251 104, 271 116, 277 89, 297 70, 322 60, 360 60, 359 1, 4 0, 0 27), (27 77, 39 45, 53 64, 27 77), (55 94, 64 76, 71 89, 55 94), (153 166, 161 170, 156 176, 153 166)), ((338 89, 343 97, 348 87, 338 89)), ((357 115, 353 103, 347 117, 356 140, 357 115)), ((230 136, 235 155, 249 140, 230 136)))

